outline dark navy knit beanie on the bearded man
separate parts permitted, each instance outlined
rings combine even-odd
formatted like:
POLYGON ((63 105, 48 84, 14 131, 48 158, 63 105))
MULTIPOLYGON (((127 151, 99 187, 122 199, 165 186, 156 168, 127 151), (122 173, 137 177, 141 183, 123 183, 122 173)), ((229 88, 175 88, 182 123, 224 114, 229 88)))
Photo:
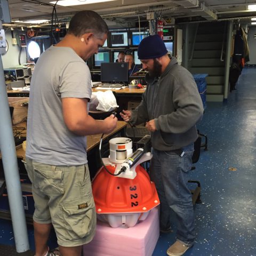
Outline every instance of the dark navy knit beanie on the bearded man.
POLYGON ((167 49, 164 41, 158 35, 143 38, 138 47, 138 58, 140 60, 159 58, 166 53, 167 49))

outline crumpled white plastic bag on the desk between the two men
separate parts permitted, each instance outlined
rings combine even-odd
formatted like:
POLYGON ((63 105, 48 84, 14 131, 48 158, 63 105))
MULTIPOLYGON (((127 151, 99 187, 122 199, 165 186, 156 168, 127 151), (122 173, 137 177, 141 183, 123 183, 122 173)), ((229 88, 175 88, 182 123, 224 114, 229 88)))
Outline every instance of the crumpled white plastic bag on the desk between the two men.
POLYGON ((96 109, 98 110, 108 112, 118 108, 115 95, 112 91, 97 92, 97 99, 99 105, 96 109))

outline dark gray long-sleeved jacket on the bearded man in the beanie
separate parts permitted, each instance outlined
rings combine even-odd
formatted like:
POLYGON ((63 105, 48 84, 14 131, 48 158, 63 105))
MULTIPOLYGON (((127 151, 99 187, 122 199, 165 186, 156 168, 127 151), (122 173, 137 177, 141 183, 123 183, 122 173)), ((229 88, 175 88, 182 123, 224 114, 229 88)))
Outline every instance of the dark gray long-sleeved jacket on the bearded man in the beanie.
POLYGON ((181 149, 197 139, 196 123, 203 115, 203 102, 189 71, 172 57, 161 77, 150 78, 140 105, 132 110, 131 123, 155 120, 151 133, 154 149, 181 149))

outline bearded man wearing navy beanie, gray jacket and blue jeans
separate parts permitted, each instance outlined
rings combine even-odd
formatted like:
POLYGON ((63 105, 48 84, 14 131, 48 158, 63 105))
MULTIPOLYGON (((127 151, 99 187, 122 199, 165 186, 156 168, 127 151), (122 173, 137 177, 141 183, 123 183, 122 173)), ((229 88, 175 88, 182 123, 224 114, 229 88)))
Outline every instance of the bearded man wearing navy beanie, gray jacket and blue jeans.
POLYGON ((160 228, 170 232, 171 211, 177 216, 177 240, 169 256, 183 255, 195 241, 194 209, 187 187, 188 171, 197 139, 196 123, 203 115, 203 103, 189 71, 167 55, 158 35, 144 38, 138 47, 142 68, 148 71, 147 89, 140 105, 123 110, 124 121, 146 122, 151 132, 153 158, 150 178, 160 198, 160 228))

